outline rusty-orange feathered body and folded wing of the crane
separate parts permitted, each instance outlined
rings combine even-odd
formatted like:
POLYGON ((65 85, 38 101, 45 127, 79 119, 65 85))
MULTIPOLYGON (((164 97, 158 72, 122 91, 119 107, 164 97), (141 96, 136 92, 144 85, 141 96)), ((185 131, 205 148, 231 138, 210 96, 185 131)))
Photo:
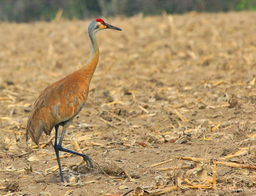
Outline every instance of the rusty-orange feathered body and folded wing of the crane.
POLYGON ((49 85, 41 91, 28 117, 28 134, 39 144, 41 134, 51 134, 52 128, 64 121, 72 120, 82 109, 88 96, 87 81, 73 74, 49 85))

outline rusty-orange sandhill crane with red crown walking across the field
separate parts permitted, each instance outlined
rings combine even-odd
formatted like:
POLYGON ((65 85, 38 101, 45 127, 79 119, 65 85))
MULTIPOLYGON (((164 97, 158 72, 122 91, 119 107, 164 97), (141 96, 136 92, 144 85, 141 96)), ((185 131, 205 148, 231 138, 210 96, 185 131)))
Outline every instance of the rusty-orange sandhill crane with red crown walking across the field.
POLYGON ((99 46, 96 33, 98 30, 102 29, 121 30, 120 28, 105 23, 102 19, 93 20, 88 27, 88 34, 92 42, 92 52, 88 62, 82 66, 81 69, 69 74, 41 91, 28 117, 26 141, 29 135, 33 142, 38 145, 41 134, 44 132, 46 135, 50 136, 52 128, 55 127, 54 149, 62 182, 64 182, 64 180, 61 162, 59 161, 59 151, 81 156, 86 161, 87 166, 89 162, 91 168, 93 168, 92 162, 87 155, 62 148, 62 140, 65 131, 69 125, 72 124, 74 117, 78 115, 85 105, 89 92, 89 84, 99 60, 99 46), (63 129, 59 142, 57 143, 59 126, 62 126, 63 129))

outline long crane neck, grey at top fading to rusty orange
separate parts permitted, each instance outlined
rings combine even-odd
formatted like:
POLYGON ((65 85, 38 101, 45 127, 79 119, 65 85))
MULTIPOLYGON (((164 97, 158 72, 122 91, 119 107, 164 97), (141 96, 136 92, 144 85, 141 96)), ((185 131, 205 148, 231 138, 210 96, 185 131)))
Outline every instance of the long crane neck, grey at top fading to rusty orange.
POLYGON ((96 39, 96 31, 89 31, 89 36, 92 42, 91 57, 88 62, 82 67, 83 75, 86 77, 87 82, 90 84, 93 73, 99 61, 99 46, 96 39))

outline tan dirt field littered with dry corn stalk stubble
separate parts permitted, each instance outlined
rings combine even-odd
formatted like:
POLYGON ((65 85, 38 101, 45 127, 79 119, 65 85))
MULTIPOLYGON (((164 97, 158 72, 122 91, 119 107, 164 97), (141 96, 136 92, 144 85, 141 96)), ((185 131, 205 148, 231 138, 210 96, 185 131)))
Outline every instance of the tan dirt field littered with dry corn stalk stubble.
POLYGON ((91 20, 0 23, 0 194, 255 195, 255 19, 106 19, 123 31, 98 32, 89 97, 63 141, 95 169, 61 152, 63 184, 55 131, 38 148, 25 128, 40 91, 87 62, 91 20))

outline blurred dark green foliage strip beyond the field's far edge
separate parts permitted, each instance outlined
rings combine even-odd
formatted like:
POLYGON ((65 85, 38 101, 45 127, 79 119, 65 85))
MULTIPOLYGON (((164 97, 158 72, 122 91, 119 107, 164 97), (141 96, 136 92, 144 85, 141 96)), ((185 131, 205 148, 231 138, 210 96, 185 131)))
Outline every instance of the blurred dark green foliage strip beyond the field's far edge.
POLYGON ((9 22, 256 10, 256 0, 1 0, 0 20, 9 22), (57 14, 58 13, 58 14, 57 14))

